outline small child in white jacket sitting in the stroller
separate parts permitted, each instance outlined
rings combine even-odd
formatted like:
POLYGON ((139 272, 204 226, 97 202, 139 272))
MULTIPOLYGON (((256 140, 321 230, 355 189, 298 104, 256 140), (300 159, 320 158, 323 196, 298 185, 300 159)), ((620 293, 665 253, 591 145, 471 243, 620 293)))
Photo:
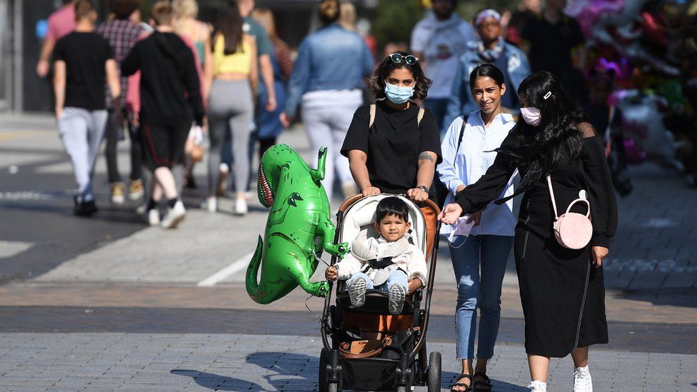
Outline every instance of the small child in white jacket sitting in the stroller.
POLYGON ((404 236, 411 228, 409 208, 398 197, 383 198, 376 208, 379 238, 356 238, 343 261, 326 268, 325 277, 346 280, 351 306, 366 303, 366 290, 389 293, 389 311, 399 314, 407 294, 426 285, 426 258, 404 236))

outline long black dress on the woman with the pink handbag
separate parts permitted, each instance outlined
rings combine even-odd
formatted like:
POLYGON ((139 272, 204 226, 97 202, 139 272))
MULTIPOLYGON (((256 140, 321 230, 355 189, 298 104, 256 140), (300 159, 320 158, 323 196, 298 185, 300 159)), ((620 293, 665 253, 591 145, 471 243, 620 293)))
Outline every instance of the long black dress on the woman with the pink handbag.
MULTIPOLYGON (((581 250, 563 248, 554 238, 553 207, 546 176, 523 195, 514 253, 525 316, 525 348, 531 355, 565 357, 573 348, 608 343, 603 268, 592 263, 591 246, 608 247, 617 226, 617 206, 603 140, 590 131, 576 159, 551 172, 559 213, 585 189, 591 203, 593 238, 581 250)), ((516 148, 515 130, 501 147, 516 148)), ((486 174, 456 197, 464 213, 485 207, 501 194, 515 171, 515 159, 499 153, 486 174)), ((521 176, 526 165, 517 168, 521 176)), ((571 211, 585 213, 577 203, 571 211)))

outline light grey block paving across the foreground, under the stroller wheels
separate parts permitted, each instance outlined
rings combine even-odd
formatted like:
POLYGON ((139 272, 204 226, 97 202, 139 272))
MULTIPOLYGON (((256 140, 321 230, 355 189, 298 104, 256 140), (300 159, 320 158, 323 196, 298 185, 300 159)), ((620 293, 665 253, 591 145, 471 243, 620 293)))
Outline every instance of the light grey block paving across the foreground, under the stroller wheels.
MULTIPOLYGON (((317 391, 321 341, 239 334, 2 333, 2 391, 317 391)), ((459 373, 454 345, 443 354, 443 383, 459 373)), ((523 348, 499 344, 489 362, 494 391, 523 392, 523 348)), ((573 363, 552 360, 550 391, 570 391, 573 363)), ((594 389, 695 391, 695 356, 591 351, 594 389)), ((425 391, 425 388, 417 388, 425 391)))

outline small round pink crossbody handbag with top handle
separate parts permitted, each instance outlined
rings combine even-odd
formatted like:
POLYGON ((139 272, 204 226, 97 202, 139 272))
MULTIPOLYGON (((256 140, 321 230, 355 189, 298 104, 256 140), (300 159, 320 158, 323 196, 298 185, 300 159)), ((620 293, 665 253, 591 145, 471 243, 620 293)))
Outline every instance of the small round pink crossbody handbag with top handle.
POLYGON ((568 208, 566 208, 566 213, 559 216, 556 210, 556 201, 554 200, 554 191, 552 189, 552 178, 547 174, 547 185, 549 186, 549 196, 552 199, 552 206, 554 207, 554 236, 559 245, 564 248, 569 249, 582 249, 589 242, 591 242, 591 236, 593 236, 593 223, 591 223, 591 203, 588 202, 586 198, 586 191, 581 191, 578 193, 578 198, 572 201, 568 208), (586 203, 588 206, 588 212, 586 215, 582 213, 569 212, 571 206, 576 203, 586 203))

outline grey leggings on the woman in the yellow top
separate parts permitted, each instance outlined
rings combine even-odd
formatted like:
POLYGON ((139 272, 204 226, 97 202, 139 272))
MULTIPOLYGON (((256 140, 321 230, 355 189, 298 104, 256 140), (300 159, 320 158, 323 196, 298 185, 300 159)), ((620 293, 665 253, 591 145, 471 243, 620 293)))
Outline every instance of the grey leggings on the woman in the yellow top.
POLYGON ((227 133, 231 134, 232 140, 235 189, 244 191, 249 179, 249 124, 254 116, 249 81, 214 81, 211 87, 208 116, 211 139, 208 161, 209 196, 216 194, 220 176, 221 151, 227 133))

